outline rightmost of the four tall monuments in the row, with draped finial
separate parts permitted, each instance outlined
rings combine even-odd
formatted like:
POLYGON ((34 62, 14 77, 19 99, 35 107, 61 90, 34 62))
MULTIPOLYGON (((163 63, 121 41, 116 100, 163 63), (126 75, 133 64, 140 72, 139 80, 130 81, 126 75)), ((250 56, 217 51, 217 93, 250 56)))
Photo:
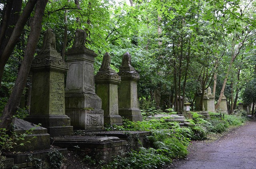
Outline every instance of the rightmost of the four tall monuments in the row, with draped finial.
POLYGON ((118 75, 122 81, 118 86, 118 111, 119 115, 130 121, 142 121, 142 115, 138 107, 137 81, 140 75, 131 65, 131 56, 124 53, 118 75))

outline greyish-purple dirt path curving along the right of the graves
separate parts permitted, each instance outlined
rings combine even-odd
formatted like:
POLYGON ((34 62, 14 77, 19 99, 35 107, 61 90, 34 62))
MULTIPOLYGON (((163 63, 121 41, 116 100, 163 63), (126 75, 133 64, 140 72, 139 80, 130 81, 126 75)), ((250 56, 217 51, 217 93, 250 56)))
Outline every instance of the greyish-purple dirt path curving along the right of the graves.
POLYGON ((231 130, 212 143, 193 142, 186 159, 167 169, 256 169, 256 122, 231 130))

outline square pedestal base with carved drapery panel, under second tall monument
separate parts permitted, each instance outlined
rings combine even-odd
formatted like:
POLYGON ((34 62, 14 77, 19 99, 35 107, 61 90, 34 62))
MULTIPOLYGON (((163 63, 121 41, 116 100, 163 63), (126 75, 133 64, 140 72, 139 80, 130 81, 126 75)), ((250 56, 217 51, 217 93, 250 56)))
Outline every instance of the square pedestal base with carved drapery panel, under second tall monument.
POLYGON ((66 109, 75 130, 97 130, 104 126, 103 110, 66 109))

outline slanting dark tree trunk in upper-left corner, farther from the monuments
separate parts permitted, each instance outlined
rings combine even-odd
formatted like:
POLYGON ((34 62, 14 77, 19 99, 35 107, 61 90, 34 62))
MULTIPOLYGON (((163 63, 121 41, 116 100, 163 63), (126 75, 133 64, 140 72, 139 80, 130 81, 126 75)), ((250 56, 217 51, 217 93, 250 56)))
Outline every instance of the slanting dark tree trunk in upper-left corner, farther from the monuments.
POLYGON ((17 24, 15 25, 12 31, 12 34, 10 36, 10 39, 8 40, 8 43, 6 43, 6 45, 2 43, 2 46, 0 49, 0 85, 2 82, 2 76, 4 74, 4 66, 6 65, 6 62, 8 61, 10 55, 12 54, 12 51, 14 50, 15 45, 18 43, 18 40, 22 33, 21 30, 23 30, 24 26, 26 25, 26 22, 28 21, 28 18, 30 17, 31 12, 34 9, 36 1, 37 0, 28 1, 28 3, 26 4, 23 10, 22 16, 20 16, 17 24))

